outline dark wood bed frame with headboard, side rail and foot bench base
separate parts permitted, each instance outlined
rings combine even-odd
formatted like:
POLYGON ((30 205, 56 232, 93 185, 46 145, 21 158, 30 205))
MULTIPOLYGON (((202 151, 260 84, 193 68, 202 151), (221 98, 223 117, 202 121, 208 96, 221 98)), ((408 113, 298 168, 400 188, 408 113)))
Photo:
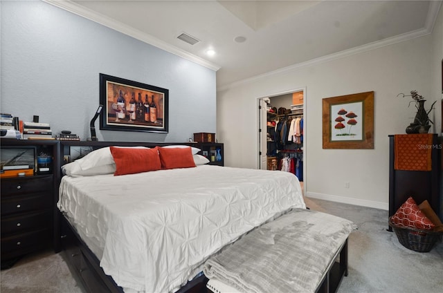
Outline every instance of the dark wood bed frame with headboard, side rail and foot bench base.
MULTIPOLYGON (((92 147, 93 149, 100 149, 102 147, 120 146, 120 147, 155 147, 165 146, 171 144, 186 144, 193 146, 192 142, 185 143, 168 143, 168 142, 78 142, 78 141, 64 141, 60 143, 60 162, 64 164, 64 155, 70 154, 71 147, 92 147)), ((60 166, 61 167, 61 166, 60 166)), ((57 180, 61 180, 60 168, 57 170, 57 180)), ((58 196, 56 196, 58 200, 58 196)), ((100 261, 87 247, 84 241, 80 238, 75 229, 71 226, 63 214, 55 211, 55 232, 54 232, 54 246, 55 252, 64 251, 64 258, 68 263, 71 271, 75 274, 87 292, 111 292, 122 293, 123 289, 119 287, 116 282, 103 272, 100 267, 100 261)), ((338 285, 340 285, 343 276, 347 276, 347 240, 339 254, 339 261, 334 262, 329 268, 324 280, 318 287, 316 292, 329 293, 336 292, 338 285)), ((208 278, 203 274, 186 285, 180 288, 176 293, 205 293, 211 292, 206 289, 208 278)))

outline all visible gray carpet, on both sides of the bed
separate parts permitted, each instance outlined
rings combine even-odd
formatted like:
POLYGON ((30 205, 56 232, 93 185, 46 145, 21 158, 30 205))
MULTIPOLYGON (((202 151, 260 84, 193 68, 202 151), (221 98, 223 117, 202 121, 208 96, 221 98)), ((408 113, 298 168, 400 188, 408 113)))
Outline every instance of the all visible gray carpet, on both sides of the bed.
MULTIPOLYGON (((386 231, 388 211, 313 198, 306 198, 306 202, 311 209, 347 218, 359 226, 350 236, 349 276, 343 278, 339 293, 443 292, 442 243, 431 252, 413 252, 386 231)), ((86 292, 62 255, 51 251, 26 256, 0 274, 1 293, 86 292)))

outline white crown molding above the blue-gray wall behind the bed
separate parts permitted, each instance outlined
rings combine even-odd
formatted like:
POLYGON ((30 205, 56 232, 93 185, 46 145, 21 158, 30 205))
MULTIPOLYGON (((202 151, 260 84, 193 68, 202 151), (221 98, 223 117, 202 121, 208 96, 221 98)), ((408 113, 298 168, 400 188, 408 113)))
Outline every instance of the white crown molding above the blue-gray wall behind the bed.
POLYGON ((66 10, 68 12, 71 12, 75 15, 79 15, 80 17, 84 17, 85 19, 89 19, 96 23, 100 23, 102 26, 107 26, 108 28, 121 32, 125 35, 129 35, 130 37, 134 37, 135 39, 145 42, 146 44, 150 44, 152 46, 155 46, 156 48, 160 48, 161 50, 165 50, 179 57, 188 59, 192 62, 195 62, 196 64, 199 64, 211 70, 217 71, 220 69, 220 66, 218 66, 217 64, 208 62, 207 60, 202 59, 196 55, 190 54, 185 50, 181 50, 176 46, 172 46, 166 43, 165 41, 161 41, 161 39, 157 39, 152 35, 148 35, 145 32, 141 32, 141 30, 136 30, 130 26, 120 23, 115 19, 111 19, 110 17, 106 17, 105 15, 100 15, 99 13, 84 8, 83 6, 80 6, 77 3, 74 3, 70 0, 42 0, 42 1, 51 4, 53 6, 56 6, 58 8, 61 8, 63 10, 66 10))

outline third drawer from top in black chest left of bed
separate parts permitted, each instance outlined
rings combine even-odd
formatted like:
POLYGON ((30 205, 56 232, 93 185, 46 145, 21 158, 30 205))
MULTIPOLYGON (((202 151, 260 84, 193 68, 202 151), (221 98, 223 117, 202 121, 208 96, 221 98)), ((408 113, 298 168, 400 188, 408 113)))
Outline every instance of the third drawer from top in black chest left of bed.
POLYGON ((23 216, 12 216, 1 218, 1 236, 6 234, 21 234, 30 229, 45 229, 52 227, 51 211, 41 213, 28 213, 23 216))

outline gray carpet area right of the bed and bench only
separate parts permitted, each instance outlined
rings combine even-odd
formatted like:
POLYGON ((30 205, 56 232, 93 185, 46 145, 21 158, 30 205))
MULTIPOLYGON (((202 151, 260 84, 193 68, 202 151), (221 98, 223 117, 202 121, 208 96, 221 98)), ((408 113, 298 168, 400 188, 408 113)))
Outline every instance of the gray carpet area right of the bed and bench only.
MULTIPOLYGON (((309 198, 307 205, 309 205, 309 198)), ((326 200, 312 200, 319 209, 352 220, 359 229, 349 238, 349 275, 338 293, 443 292, 443 244, 419 253, 402 246, 388 232, 388 211, 326 200)))

